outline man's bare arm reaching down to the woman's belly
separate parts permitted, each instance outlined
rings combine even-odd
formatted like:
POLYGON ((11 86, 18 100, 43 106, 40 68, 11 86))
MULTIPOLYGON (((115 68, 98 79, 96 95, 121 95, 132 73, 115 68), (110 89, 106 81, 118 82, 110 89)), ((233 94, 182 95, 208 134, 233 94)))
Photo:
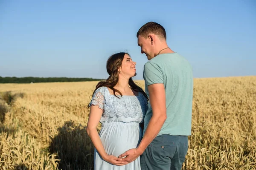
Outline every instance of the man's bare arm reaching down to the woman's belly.
POLYGON ((163 83, 148 85, 148 93, 152 108, 152 117, 148 122, 148 126, 139 146, 119 156, 119 158, 126 156, 123 161, 132 162, 137 159, 157 136, 167 118, 166 95, 163 83))

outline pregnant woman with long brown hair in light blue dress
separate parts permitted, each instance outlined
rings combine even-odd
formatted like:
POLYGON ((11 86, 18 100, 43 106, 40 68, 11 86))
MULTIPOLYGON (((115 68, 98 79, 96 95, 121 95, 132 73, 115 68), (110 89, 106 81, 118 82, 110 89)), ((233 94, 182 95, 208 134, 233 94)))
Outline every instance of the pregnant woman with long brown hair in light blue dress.
POLYGON ((94 170, 140 170, 140 157, 129 164, 118 158, 140 143, 147 111, 147 95, 131 79, 136 76, 135 65, 129 54, 113 54, 107 61, 108 79, 93 92, 87 133, 95 146, 94 170))

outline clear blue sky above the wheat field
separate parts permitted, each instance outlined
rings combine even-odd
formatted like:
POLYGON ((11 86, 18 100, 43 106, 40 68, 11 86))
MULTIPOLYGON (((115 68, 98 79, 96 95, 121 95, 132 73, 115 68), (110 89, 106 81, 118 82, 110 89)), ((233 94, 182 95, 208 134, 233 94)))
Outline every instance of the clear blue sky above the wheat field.
POLYGON ((136 33, 148 21, 194 77, 256 75, 255 0, 0 0, 0 76, 107 78, 125 51, 143 79, 136 33))

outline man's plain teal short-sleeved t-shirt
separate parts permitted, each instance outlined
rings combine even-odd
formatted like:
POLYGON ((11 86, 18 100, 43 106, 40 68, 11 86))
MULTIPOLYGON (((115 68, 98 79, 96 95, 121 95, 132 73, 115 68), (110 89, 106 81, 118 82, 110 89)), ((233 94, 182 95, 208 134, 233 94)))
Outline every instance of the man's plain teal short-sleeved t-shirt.
POLYGON ((177 53, 160 54, 144 65, 145 92, 148 95, 148 111, 144 132, 152 116, 148 85, 163 83, 166 93, 167 119, 157 136, 163 134, 191 135, 193 74, 189 62, 177 53))

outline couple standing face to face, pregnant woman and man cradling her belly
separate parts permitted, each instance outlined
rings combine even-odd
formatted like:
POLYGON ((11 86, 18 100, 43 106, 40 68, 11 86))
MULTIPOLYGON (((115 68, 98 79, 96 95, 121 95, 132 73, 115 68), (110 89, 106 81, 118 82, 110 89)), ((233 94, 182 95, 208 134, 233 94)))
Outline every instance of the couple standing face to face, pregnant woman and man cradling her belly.
POLYGON ((132 80, 136 62, 121 52, 108 58, 109 77, 96 85, 88 105, 94 170, 180 170, 185 161, 192 122, 192 66, 168 47, 166 31, 158 23, 143 25, 137 40, 148 58, 145 92, 132 80))

